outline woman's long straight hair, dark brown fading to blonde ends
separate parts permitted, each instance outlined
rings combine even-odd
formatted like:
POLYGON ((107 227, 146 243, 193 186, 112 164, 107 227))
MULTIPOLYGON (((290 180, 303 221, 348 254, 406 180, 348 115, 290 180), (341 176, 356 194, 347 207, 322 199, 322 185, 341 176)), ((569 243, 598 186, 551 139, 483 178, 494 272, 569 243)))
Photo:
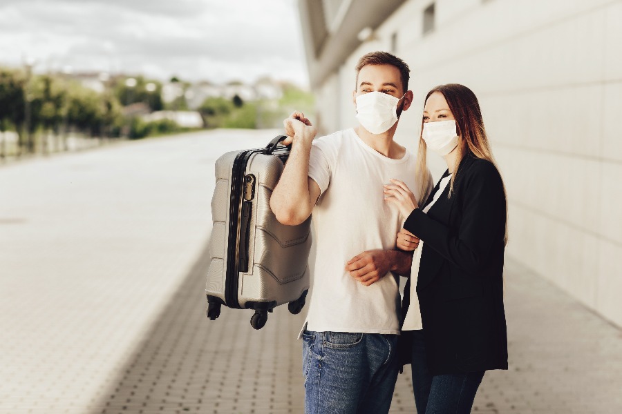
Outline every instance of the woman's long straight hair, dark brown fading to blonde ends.
MULTIPOLYGON (((492 151, 490 149, 490 145, 488 142, 488 137, 486 135, 486 129, 484 128, 484 119, 482 119, 482 111, 480 110, 480 103, 478 102, 478 98, 475 97, 475 94, 466 86, 460 85, 458 83, 447 83, 446 85, 440 85, 436 88, 433 88, 428 95, 426 95, 425 103, 428 101, 430 95, 434 92, 440 92, 445 97, 447 101, 447 105, 449 105, 449 110, 453 114, 455 119, 455 125, 457 128, 458 136, 460 137, 460 141, 458 142, 458 148, 460 151, 460 155, 458 159, 464 158, 465 155, 469 153, 474 157, 486 159, 490 161, 495 168, 499 171, 497 163, 492 155, 492 151)), ((421 121, 421 130, 423 132, 423 119, 421 121)), ((419 137, 419 153, 417 155, 417 174, 419 177, 427 177, 428 175, 428 167, 426 163, 426 155, 427 155, 428 146, 426 146, 426 141, 421 137, 419 137)), ((453 183, 456 179, 456 175, 458 175, 458 166, 460 162, 456 163, 454 170, 451 171, 451 183, 449 186, 449 195, 453 193, 453 183)), ((428 181, 422 180, 420 188, 420 194, 425 195, 422 197, 422 201, 424 201, 428 197, 428 181)), ((505 238, 504 242, 507 244, 507 193, 505 191, 505 185, 503 185, 503 193, 505 196, 505 238)))

